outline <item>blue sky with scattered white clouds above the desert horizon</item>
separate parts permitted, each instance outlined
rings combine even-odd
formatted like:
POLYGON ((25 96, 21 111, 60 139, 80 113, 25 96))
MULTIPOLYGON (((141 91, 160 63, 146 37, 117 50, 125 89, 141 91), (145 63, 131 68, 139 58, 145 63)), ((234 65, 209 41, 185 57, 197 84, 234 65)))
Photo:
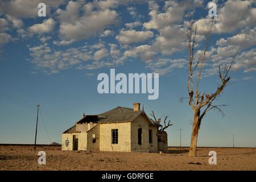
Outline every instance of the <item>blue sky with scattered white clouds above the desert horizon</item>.
MULTIPOLYGON (((218 66, 234 59, 232 84, 214 104, 223 116, 204 117, 197 146, 256 147, 255 0, 213 1, 210 44, 200 82, 213 93, 218 66)), ((117 106, 144 105, 149 114, 168 115, 168 146, 189 146, 193 112, 188 101, 187 30, 195 21, 195 57, 204 49, 211 18, 209 1, 0 2, 0 143, 34 143, 36 105, 40 104, 37 143, 61 143, 61 133, 82 118, 117 106), (46 4, 46 17, 38 4, 46 4), (159 73, 159 97, 100 94, 100 73, 159 73)))

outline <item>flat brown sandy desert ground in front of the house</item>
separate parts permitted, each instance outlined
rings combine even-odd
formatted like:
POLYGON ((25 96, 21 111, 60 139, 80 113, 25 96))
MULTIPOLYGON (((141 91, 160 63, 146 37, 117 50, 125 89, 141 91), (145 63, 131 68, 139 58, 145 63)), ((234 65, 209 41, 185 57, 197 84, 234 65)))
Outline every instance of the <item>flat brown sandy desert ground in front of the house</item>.
POLYGON ((0 170, 256 170, 256 148, 169 148, 168 154, 141 152, 61 151, 60 147, 0 146, 0 170), (46 152, 46 165, 38 164, 38 151, 46 152), (209 151, 217 164, 208 163, 209 151), (191 163, 191 164, 189 164, 191 163))

